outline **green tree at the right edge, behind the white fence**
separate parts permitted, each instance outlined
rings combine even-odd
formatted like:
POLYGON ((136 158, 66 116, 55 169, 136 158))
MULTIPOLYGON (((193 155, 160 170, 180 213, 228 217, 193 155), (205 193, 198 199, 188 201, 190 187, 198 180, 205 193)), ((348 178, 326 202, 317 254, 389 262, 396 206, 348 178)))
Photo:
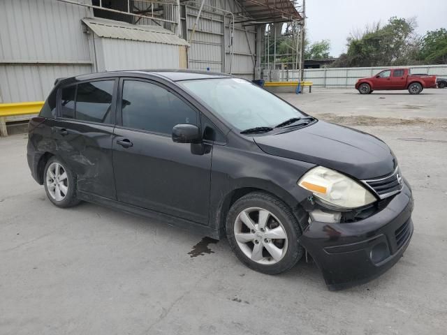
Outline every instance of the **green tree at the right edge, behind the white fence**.
POLYGON ((447 30, 427 31, 422 38, 419 59, 426 64, 447 64, 447 30))

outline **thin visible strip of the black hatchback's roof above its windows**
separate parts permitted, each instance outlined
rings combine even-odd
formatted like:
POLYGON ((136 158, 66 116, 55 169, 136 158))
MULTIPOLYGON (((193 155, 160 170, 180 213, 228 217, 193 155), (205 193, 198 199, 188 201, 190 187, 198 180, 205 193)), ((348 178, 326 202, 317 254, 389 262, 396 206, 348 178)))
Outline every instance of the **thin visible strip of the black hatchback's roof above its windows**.
POLYGON ((113 75, 125 76, 129 74, 149 74, 156 75, 159 77, 165 77, 168 80, 177 82, 180 80, 198 80, 198 79, 213 79, 213 78, 223 78, 223 77, 234 77, 233 75, 228 75, 227 73, 218 73, 211 71, 202 70, 179 70, 179 69, 156 69, 156 70, 117 70, 110 72, 98 72, 89 73, 87 75, 78 75, 71 78, 64 78, 64 82, 70 82, 70 79, 75 80, 95 80, 101 79, 103 77, 112 77, 113 75))

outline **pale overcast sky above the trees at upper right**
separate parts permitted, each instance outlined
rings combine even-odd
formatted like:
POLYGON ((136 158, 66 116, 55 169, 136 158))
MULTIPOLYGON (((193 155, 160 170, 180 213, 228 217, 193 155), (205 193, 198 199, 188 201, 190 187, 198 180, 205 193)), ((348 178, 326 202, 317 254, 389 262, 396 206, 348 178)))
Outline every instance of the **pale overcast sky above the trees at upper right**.
MULTIPOLYGON (((299 2, 301 2, 300 0, 299 2)), ((447 0, 306 0, 307 35, 312 42, 330 40, 330 55, 346 52, 346 37, 367 24, 386 23, 392 16, 416 17, 416 33, 447 29, 447 0)))

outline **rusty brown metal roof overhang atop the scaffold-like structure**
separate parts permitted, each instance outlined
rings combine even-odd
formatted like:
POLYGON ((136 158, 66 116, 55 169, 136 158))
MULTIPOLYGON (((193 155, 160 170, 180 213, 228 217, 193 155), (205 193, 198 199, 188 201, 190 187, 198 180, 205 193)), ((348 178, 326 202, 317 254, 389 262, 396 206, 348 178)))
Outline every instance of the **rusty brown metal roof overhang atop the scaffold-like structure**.
POLYGON ((253 18, 253 20, 244 17, 237 22, 263 24, 302 20, 293 0, 240 0, 239 2, 244 8, 244 12, 238 14, 244 14, 244 16, 253 18))

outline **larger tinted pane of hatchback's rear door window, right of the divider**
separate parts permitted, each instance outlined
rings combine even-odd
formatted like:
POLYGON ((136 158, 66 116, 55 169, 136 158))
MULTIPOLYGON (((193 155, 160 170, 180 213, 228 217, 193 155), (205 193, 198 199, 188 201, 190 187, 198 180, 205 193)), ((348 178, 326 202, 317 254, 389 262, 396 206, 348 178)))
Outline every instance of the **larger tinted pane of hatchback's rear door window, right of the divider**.
POLYGON ((115 80, 78 84, 75 119, 110 124, 115 80))

